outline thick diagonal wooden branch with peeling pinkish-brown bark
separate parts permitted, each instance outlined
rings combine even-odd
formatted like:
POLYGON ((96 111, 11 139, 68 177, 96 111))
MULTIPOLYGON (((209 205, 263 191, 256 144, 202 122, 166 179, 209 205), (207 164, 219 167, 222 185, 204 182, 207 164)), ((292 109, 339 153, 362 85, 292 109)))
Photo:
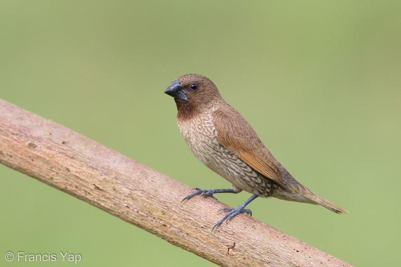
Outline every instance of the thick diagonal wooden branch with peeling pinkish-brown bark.
POLYGON ((221 266, 351 266, 51 120, 0 100, 0 162, 221 266))

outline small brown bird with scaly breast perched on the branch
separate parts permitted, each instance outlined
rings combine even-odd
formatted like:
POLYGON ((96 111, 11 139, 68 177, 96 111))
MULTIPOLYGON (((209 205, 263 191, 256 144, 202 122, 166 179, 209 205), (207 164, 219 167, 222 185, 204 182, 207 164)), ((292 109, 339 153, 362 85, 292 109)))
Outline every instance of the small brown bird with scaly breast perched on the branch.
POLYGON ((232 184, 230 189, 199 189, 195 195, 215 193, 253 194, 247 201, 228 211, 213 227, 245 209, 257 197, 322 205, 336 213, 348 213, 319 197, 297 182, 260 141, 251 125, 221 97, 216 85, 199 74, 179 76, 164 91, 177 104, 177 124, 192 153, 206 166, 232 184))

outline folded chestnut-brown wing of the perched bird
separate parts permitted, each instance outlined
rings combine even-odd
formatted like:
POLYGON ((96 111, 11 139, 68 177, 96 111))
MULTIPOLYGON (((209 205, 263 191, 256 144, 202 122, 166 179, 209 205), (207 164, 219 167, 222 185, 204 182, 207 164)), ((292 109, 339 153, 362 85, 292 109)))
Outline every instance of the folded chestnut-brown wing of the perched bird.
POLYGON ((243 116, 227 105, 215 110, 213 117, 220 144, 268 179, 288 189, 278 167, 279 163, 243 116))

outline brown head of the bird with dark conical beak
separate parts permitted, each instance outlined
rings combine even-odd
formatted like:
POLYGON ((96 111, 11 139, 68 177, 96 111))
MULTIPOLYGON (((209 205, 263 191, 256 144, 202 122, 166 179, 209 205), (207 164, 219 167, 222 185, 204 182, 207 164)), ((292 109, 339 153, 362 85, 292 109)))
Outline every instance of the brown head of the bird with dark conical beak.
POLYGON ((174 98, 178 117, 182 119, 204 113, 214 105, 224 102, 216 85, 199 74, 179 76, 170 83, 164 93, 174 98))

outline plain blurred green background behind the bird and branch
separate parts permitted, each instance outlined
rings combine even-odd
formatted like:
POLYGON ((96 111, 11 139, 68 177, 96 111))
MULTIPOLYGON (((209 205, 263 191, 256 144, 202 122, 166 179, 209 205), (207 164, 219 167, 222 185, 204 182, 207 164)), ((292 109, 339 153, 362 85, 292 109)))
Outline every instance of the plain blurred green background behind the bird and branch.
MULTIPOLYGON (((400 11, 399 1, 3 0, 0 98, 191 187, 227 188, 190 153, 163 94, 179 75, 206 75, 298 181, 350 211, 257 199, 254 217, 353 265, 395 266, 400 11)), ((2 266, 43 265, 7 262, 7 251, 214 266, 4 165, 0 183, 2 266)))

